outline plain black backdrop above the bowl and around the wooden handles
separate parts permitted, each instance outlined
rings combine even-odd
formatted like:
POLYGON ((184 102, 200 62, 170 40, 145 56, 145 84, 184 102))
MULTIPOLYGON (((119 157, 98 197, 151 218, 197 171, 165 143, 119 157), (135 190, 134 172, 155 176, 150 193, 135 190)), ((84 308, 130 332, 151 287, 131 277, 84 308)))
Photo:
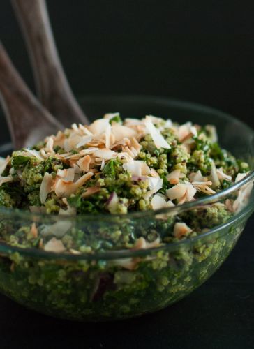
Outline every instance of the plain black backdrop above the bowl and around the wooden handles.
MULTIPOLYGON (((48 8, 76 94, 170 96, 251 123, 253 1, 51 0, 48 8)), ((1 0, 0 37, 33 86, 10 0, 1 0)))

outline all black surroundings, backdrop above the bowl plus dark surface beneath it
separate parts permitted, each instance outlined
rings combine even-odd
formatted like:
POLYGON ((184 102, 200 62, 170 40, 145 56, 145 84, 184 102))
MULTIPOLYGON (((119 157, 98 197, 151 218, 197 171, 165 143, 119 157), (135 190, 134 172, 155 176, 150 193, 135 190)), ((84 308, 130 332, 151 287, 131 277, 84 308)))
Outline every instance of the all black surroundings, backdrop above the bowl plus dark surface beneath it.
MULTIPOLYGON (((25 0, 24 0, 25 1, 25 0)), ((75 94, 149 94, 211 105, 254 126, 254 6, 246 1, 51 0, 75 94)), ((10 2, 0 37, 33 88, 10 2)), ((254 348, 254 219, 223 267, 178 304, 125 322, 75 324, 0 297, 1 348, 254 348)))

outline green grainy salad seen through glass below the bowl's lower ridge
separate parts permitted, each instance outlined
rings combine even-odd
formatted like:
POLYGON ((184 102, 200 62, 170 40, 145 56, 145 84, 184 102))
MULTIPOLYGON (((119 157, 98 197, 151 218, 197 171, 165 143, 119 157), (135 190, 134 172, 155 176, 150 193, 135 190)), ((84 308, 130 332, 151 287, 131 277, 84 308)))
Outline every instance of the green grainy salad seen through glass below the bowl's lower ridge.
POLYGON ((31 309, 70 320, 142 315, 177 302, 206 281, 227 258, 243 227, 239 221, 194 245, 150 252, 133 270, 117 260, 68 262, 1 254, 0 290, 31 309))

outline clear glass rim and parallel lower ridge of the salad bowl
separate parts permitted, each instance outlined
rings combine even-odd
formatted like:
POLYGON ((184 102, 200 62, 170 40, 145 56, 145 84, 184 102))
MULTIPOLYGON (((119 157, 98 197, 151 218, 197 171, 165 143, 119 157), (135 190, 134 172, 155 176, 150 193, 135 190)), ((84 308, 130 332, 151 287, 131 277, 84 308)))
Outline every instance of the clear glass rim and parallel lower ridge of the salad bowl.
MULTIPOLYGON (((222 119, 225 119, 227 121, 237 121, 243 126, 245 126, 248 131, 253 133, 253 138, 254 138, 254 131, 252 128, 250 128, 248 125, 246 125, 244 122, 240 121, 236 117, 233 117, 230 114, 227 114, 225 112, 221 112, 220 110, 217 110, 212 107, 207 107, 205 105, 197 104, 197 103, 192 103, 192 102, 187 102, 187 101, 178 101, 172 98, 163 98, 163 97, 156 97, 156 96, 88 96, 89 98, 94 98, 95 101, 97 100, 103 100, 105 99, 110 101, 126 101, 130 100, 133 101, 134 103, 137 101, 144 102, 147 101, 149 102, 156 102, 158 104, 163 103, 164 105, 174 106, 174 107, 185 107, 185 108, 191 108, 195 109, 198 111, 203 111, 203 112, 212 112, 214 114, 217 114, 218 117, 221 117, 222 119)), ((1 149, 6 150, 8 148, 8 144, 3 144, 0 147, 1 149), (7 145, 7 147, 6 147, 7 145)), ((45 219, 45 220, 50 220, 52 221, 57 221, 61 219, 61 221, 66 220, 66 221, 95 221, 100 219, 107 222, 112 222, 117 219, 138 219, 138 218, 149 218, 149 217, 154 217, 158 214, 170 214, 174 211, 186 211, 188 209, 194 209, 200 207, 200 205, 208 205, 211 202, 217 202, 218 200, 221 200, 227 195, 230 195, 234 191, 239 190, 239 188, 243 187, 244 185, 251 183, 254 179, 254 170, 249 172, 244 179, 241 179, 241 181, 238 181, 237 183, 233 184, 229 188, 223 189, 222 191, 214 194, 214 195, 209 195, 204 198, 197 199, 192 202, 185 202, 183 205, 179 205, 176 207, 169 207, 165 209, 159 209, 156 211, 138 211, 138 212, 132 212, 129 214, 124 214, 124 215, 117 215, 117 214, 82 214, 78 216, 56 216, 54 214, 40 214, 40 213, 31 213, 29 211, 24 211, 22 209, 9 209, 6 207, 0 207, 0 214, 5 215, 6 218, 9 216, 10 218, 20 218, 26 219, 33 221, 34 219, 45 219)), ((241 218, 241 216, 244 216, 245 214, 248 213, 248 211, 252 211, 252 207, 246 207, 243 211, 239 212, 239 214, 235 215, 230 219, 230 221, 227 221, 227 223, 223 225, 218 225, 215 228, 209 230, 208 232, 204 232, 197 237, 194 237, 192 239, 186 239, 186 240, 181 240, 180 242, 170 242, 167 244, 163 244, 157 248, 147 248, 145 250, 137 250, 137 251, 130 251, 130 250, 122 250, 122 251, 105 251, 105 252, 99 252, 99 253, 80 253, 80 255, 71 255, 68 253, 53 253, 53 252, 47 252, 47 251, 42 251, 38 250, 38 248, 20 248, 16 246, 11 246, 8 244, 5 244, 3 242, 0 242, 0 253, 13 253, 13 252, 20 252, 20 254, 24 254, 27 256, 32 256, 36 258, 49 258, 49 259, 63 259, 63 260, 112 260, 116 258, 130 258, 130 257, 135 257, 137 255, 148 255, 151 253, 151 251, 160 251, 164 249, 170 249, 176 248, 176 246, 181 246, 183 244, 193 244, 193 242, 196 242, 198 239, 202 239, 203 237, 207 237, 208 235, 212 235, 218 230, 221 230, 222 228, 226 228, 227 225, 232 224, 232 221, 238 221, 238 219, 241 218)))

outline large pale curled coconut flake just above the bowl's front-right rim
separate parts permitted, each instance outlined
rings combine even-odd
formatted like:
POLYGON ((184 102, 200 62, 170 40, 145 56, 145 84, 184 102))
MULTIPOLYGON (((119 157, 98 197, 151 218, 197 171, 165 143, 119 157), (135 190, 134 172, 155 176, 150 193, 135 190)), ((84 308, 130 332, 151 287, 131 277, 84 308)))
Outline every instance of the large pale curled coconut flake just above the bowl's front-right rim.
POLYGON ((192 201, 197 190, 188 182, 185 184, 177 184, 170 189, 167 189, 167 198, 177 200, 181 205, 186 201, 192 201))

